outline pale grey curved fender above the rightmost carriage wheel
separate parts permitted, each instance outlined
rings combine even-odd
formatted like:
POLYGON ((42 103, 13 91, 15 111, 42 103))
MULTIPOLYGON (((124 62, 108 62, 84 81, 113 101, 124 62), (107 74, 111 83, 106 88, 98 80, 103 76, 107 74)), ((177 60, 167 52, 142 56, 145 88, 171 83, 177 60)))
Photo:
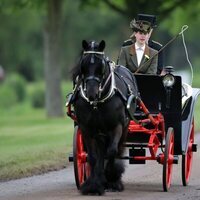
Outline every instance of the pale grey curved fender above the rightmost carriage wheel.
POLYGON ((188 148, 188 140, 194 118, 195 103, 199 95, 200 88, 192 88, 192 95, 187 100, 182 110, 182 153, 186 152, 188 148))

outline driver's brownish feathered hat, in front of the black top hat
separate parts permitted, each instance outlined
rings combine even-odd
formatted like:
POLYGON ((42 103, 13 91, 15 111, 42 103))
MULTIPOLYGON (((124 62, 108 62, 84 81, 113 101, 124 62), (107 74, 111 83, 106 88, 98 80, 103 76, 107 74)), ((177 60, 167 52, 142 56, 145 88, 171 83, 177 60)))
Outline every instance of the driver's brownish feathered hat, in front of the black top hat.
POLYGON ((151 23, 148 21, 136 21, 135 19, 133 19, 130 22, 130 28, 132 28, 134 32, 140 31, 143 33, 149 33, 149 31, 151 30, 151 23))

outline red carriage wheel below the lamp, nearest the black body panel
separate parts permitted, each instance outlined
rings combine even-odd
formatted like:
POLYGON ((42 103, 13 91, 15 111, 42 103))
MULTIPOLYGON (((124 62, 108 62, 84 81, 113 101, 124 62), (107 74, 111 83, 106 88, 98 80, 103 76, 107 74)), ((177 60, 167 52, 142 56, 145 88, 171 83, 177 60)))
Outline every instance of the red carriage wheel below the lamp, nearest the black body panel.
POLYGON ((174 129, 168 128, 163 163, 163 189, 167 192, 171 185, 172 168, 174 160, 174 129))

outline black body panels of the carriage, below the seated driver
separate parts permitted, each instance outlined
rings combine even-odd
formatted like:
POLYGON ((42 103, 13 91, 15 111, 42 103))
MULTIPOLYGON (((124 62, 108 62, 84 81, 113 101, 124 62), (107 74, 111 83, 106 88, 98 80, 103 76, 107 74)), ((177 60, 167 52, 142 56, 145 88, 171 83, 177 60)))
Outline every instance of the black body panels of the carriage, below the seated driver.
MULTIPOLYGON (((141 99, 144 105, 147 107, 149 113, 152 116, 157 116, 161 114, 164 119, 164 130, 162 131, 162 135, 166 135, 169 127, 174 129, 174 154, 181 155, 182 154, 182 93, 181 93, 181 77, 175 76, 174 85, 169 88, 170 96, 168 97, 167 90, 163 85, 163 76, 157 75, 135 75, 138 90, 140 92, 141 99), (170 98, 169 105, 167 102, 167 98, 170 98), (165 132, 165 133, 163 133, 165 132)), ((142 111, 135 113, 136 119, 141 118, 143 115, 142 111)), ((133 130, 134 131, 134 130, 133 130)), ((148 141, 148 137, 145 139, 146 134, 136 134, 135 138, 132 138, 131 131, 128 134, 128 141, 136 141, 138 143, 148 141), (143 136, 142 136, 143 135, 143 136)), ((162 138, 164 139, 164 138, 162 138)))

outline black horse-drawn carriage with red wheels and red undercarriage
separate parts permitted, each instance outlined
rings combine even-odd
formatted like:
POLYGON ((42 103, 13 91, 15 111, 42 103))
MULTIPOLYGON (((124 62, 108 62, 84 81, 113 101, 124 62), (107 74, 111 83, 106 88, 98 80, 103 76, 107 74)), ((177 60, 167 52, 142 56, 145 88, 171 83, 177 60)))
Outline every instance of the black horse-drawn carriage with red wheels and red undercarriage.
MULTIPOLYGON (((128 159, 130 164, 144 164, 146 160, 157 160, 163 164, 163 188, 168 191, 172 165, 178 163, 178 156, 182 156, 182 182, 186 186, 191 174, 192 154, 197 149, 194 144, 194 107, 200 90, 192 88, 191 96, 182 105, 180 76, 174 76, 175 83, 170 88, 164 86, 164 76, 135 77, 144 107, 138 105, 135 120, 129 123, 124 144, 129 148, 129 155, 121 159, 128 159), (167 138, 167 135, 172 136, 167 138), (149 149, 150 156, 146 156, 145 148, 149 149)), ((79 189, 89 176, 90 168, 76 115, 70 104, 67 104, 67 108, 67 114, 75 121, 73 154, 69 156, 69 161, 74 161, 75 180, 79 189)))

